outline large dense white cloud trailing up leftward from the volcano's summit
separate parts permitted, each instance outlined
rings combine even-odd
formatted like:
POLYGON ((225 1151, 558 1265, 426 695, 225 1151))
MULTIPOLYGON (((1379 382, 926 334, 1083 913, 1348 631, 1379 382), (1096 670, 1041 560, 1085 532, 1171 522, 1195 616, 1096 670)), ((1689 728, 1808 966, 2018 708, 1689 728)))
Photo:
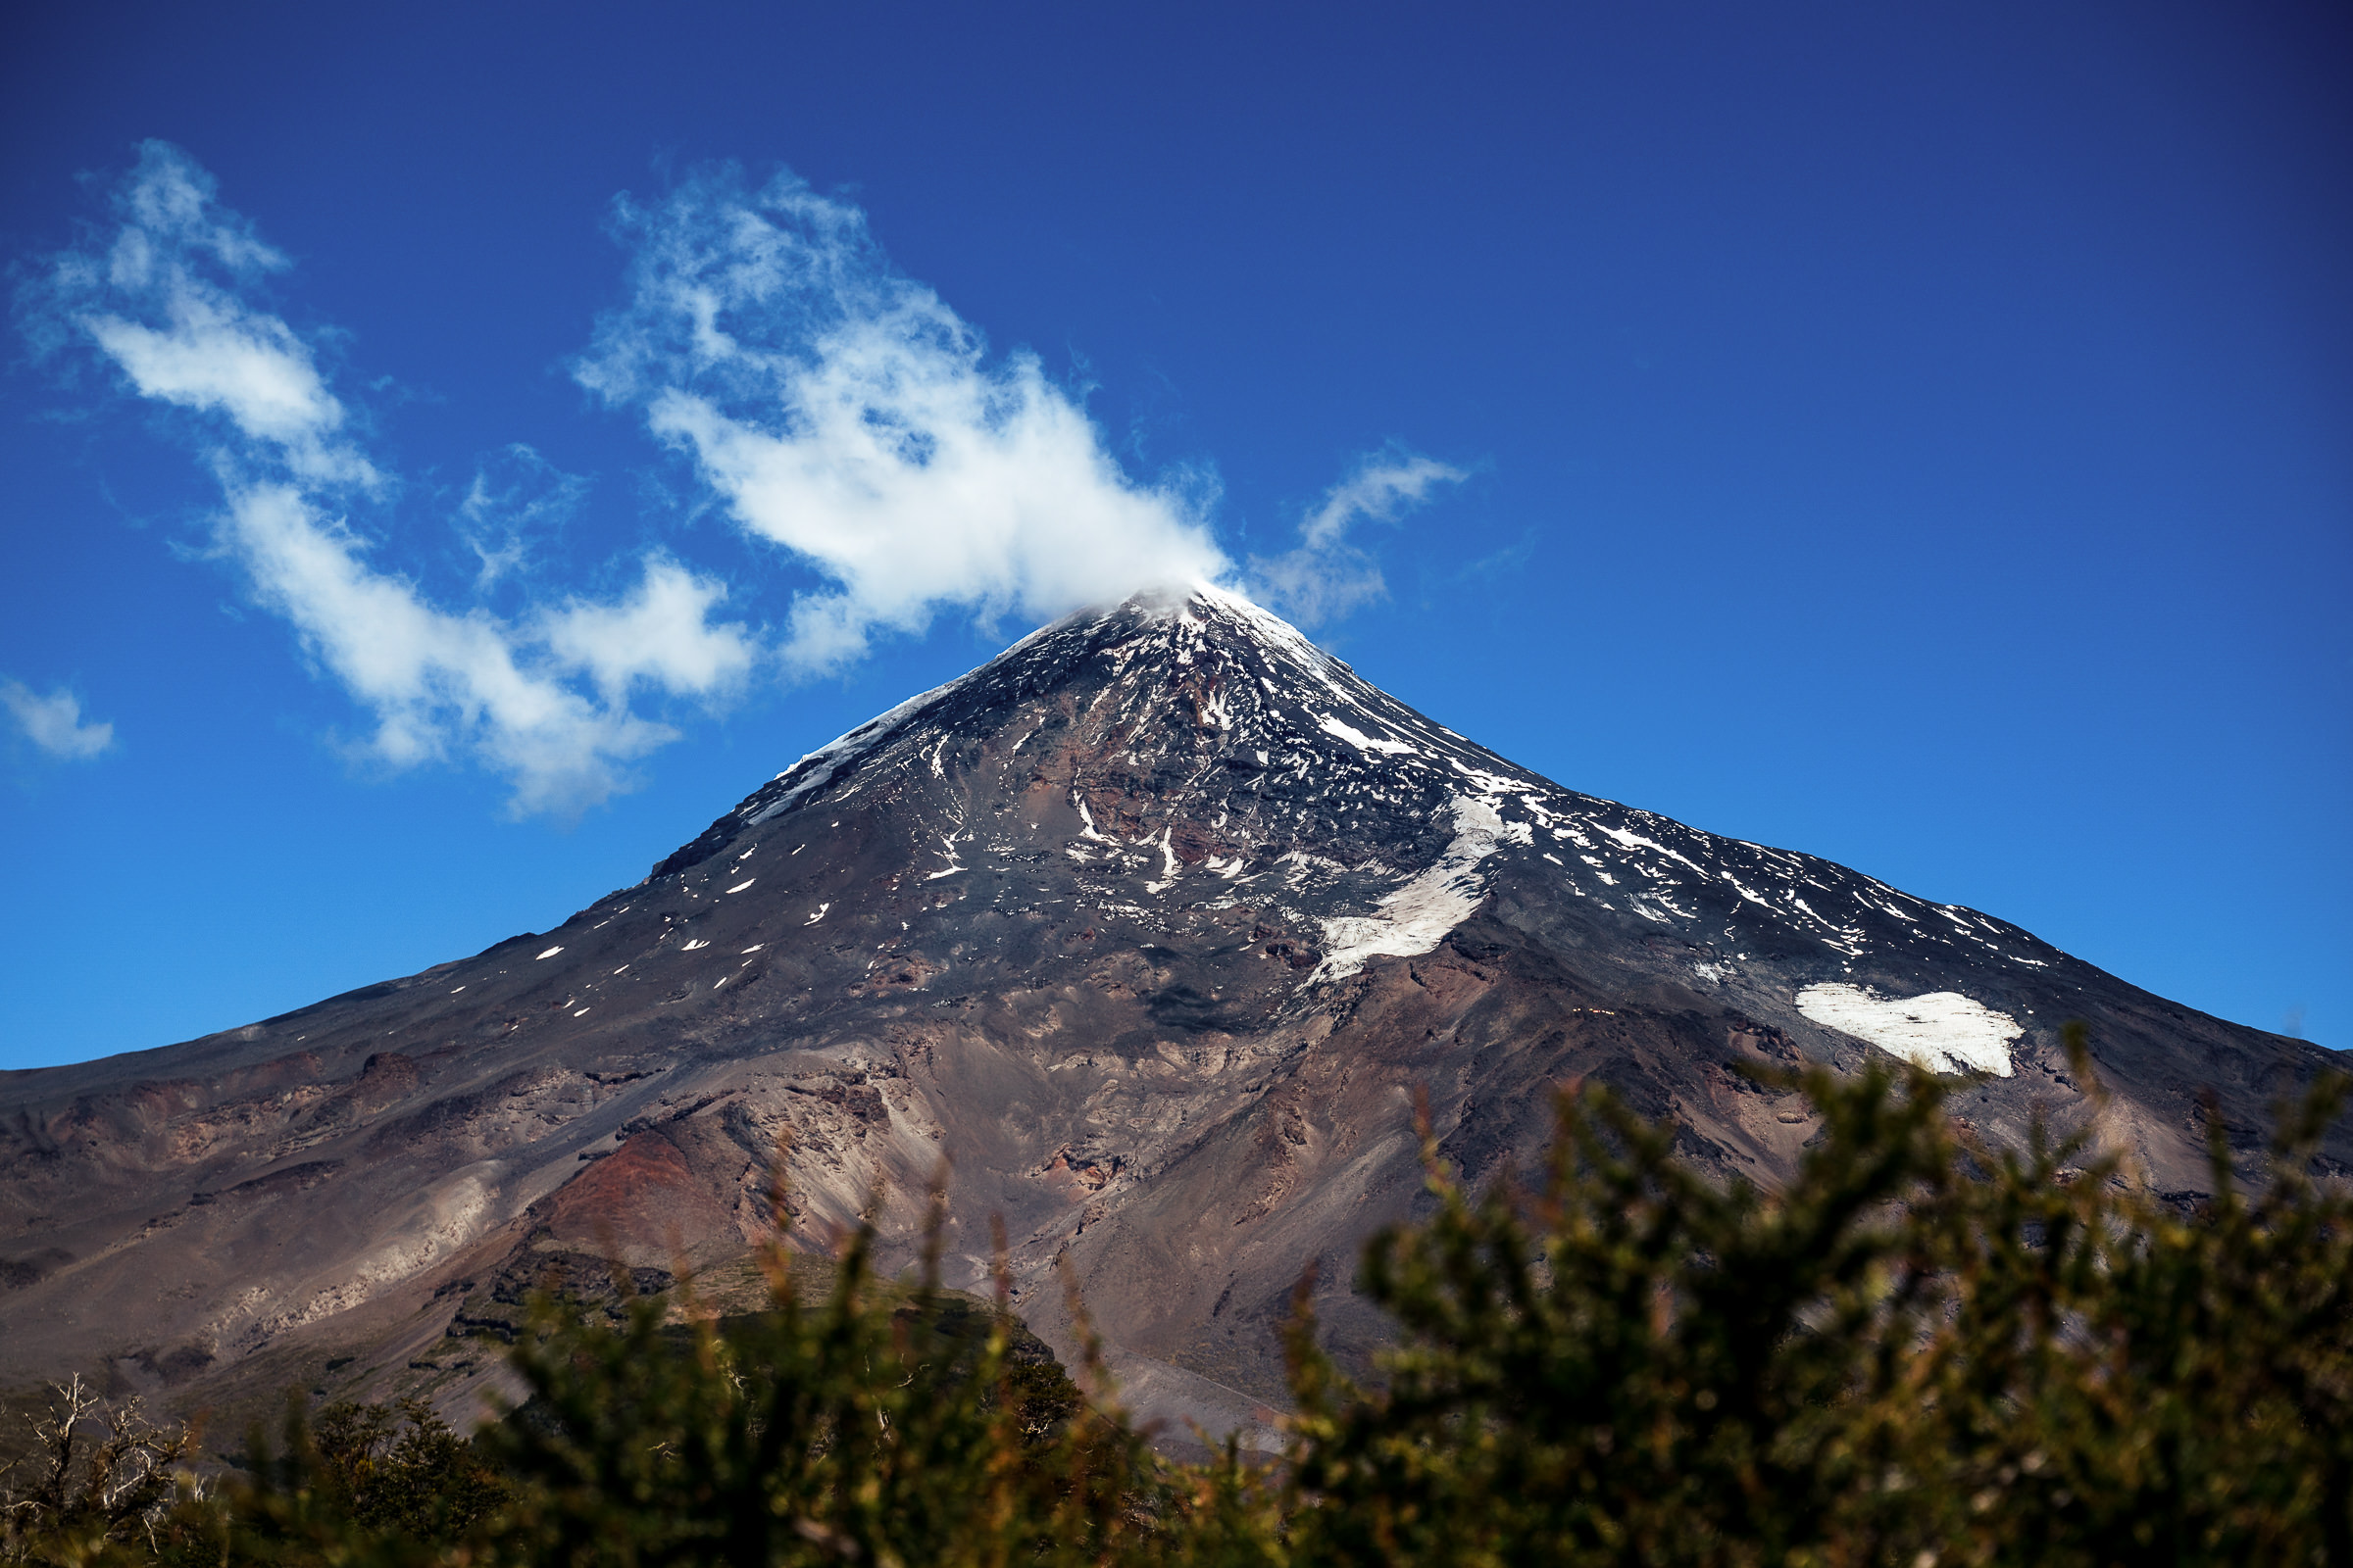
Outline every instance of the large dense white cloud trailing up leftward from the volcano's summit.
POLYGON ((621 207, 633 299, 579 381, 645 409, 736 524, 826 588, 786 661, 838 668, 941 609, 1042 621, 1224 576, 1198 484, 1136 484, 1035 355, 896 275, 859 209, 732 172, 621 207))

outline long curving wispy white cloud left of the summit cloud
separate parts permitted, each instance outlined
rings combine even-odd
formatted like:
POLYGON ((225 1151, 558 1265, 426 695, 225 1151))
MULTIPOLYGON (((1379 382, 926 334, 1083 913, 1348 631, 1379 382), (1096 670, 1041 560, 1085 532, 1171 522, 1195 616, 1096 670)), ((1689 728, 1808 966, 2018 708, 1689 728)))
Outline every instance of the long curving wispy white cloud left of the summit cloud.
MULTIPOLYGON (((635 712, 635 693, 708 701, 755 665, 755 637, 711 618, 727 588, 649 555, 616 602, 501 618, 438 607, 374 567, 353 508, 393 480, 313 346, 254 301, 285 266, 195 162, 151 141, 113 195, 111 233, 56 259, 26 303, 35 336, 80 339, 132 393, 193 416, 224 491, 216 552, 367 708, 367 755, 473 755, 511 778, 518 811, 576 813, 626 788, 626 766, 675 736, 635 712)), ((485 482, 475 522, 499 512, 485 482)))

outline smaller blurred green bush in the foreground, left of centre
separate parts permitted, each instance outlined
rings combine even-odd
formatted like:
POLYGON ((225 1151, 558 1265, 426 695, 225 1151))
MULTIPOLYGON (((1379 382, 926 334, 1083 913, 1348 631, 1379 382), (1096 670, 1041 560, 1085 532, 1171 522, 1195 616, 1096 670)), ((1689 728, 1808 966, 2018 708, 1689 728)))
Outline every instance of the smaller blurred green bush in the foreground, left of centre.
POLYGON ((906 1295, 861 1234, 824 1302, 767 1262, 769 1312, 682 1333, 541 1309, 532 1403, 489 1434, 522 1500, 501 1559, 1094 1563, 1146 1528, 1136 1434, 1014 1361, 1007 1314, 972 1335, 936 1258, 906 1295))

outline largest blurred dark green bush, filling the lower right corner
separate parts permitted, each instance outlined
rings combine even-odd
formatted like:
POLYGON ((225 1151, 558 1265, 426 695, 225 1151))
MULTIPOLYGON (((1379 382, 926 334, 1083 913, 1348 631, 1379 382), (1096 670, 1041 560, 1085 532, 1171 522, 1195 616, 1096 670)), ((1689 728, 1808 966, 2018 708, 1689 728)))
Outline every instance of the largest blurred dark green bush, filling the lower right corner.
POLYGON ((1301 1295, 1301 1561, 2353 1563, 2353 1206, 2308 1175, 2344 1081, 2257 1197, 2217 1124, 2188 1215, 2080 1135, 1977 1143, 1918 1070, 1777 1081, 1824 1114, 1779 1197, 1607 1093, 1534 1190, 1433 1150, 1435 1218, 1365 1260, 1386 1389, 1301 1295))

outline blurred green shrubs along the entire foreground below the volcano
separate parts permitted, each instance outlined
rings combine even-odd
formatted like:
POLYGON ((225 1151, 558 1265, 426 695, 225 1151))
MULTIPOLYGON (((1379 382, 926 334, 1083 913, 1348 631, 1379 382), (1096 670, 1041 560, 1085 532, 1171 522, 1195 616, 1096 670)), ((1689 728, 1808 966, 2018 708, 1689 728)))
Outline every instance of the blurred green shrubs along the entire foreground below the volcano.
MULTIPOLYGON (((2080 1056, 2080 1037, 2073 1039, 2080 1056)), ((2353 1563, 2353 1199, 2311 1175, 2179 1211, 2082 1138, 1974 1140, 1922 1072, 1765 1079, 1824 1117, 1781 1194, 1722 1190, 1605 1091, 1541 1173, 1374 1239, 1379 1387, 1318 1349, 1252 1465, 1155 1460, 1012 1354, 1002 1312, 878 1281, 689 1328, 536 1307, 532 1401, 464 1439, 329 1406, 186 1476, 136 1410, 52 1420, 26 1563, 2353 1563)), ((1101 1368, 1082 1375, 1104 1389, 1101 1368)), ((73 1399, 87 1399, 73 1394, 73 1399)))

